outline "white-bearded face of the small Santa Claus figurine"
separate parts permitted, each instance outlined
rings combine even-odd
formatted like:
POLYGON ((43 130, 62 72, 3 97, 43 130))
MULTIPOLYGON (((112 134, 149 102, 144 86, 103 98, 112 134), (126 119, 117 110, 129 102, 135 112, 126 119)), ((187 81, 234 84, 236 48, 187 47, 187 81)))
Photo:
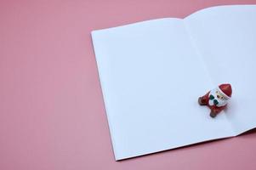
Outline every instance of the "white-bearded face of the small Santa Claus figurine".
POLYGON ((209 105, 216 105, 218 107, 224 106, 228 103, 228 99, 219 92, 218 88, 211 90, 209 94, 209 105))

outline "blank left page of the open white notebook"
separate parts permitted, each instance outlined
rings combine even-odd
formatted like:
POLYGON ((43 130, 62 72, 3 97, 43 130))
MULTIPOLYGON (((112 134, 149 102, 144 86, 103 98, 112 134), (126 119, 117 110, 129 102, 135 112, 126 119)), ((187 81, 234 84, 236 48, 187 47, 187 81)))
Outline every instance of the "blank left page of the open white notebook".
POLYGON ((234 135, 197 99, 214 88, 183 20, 92 32, 116 160, 234 135))

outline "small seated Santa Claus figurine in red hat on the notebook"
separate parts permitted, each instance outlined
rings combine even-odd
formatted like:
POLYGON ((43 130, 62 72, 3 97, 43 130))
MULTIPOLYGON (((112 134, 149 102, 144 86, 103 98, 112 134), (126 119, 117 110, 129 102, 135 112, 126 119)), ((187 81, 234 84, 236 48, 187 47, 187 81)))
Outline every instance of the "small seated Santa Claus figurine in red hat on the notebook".
POLYGON ((202 97, 198 98, 199 105, 208 105, 211 110, 210 116, 215 117, 223 111, 231 98, 232 88, 230 84, 221 84, 202 97))

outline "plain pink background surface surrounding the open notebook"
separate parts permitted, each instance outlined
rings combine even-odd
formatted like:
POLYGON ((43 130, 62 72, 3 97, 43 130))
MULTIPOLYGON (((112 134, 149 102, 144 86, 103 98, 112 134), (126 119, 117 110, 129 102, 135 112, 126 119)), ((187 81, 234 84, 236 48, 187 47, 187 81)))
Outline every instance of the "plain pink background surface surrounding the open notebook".
POLYGON ((152 2, 0 1, 1 170, 256 168, 256 133, 114 160, 90 31, 256 3, 152 2))

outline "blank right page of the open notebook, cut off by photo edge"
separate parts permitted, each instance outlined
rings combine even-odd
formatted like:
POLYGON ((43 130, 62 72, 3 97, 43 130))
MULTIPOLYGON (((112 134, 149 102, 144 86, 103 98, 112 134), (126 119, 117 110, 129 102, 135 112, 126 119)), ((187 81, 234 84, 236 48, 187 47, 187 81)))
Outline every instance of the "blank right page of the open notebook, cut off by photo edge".
POLYGON ((230 82, 236 134, 256 127, 256 5, 206 8, 185 18, 214 84, 230 82))

